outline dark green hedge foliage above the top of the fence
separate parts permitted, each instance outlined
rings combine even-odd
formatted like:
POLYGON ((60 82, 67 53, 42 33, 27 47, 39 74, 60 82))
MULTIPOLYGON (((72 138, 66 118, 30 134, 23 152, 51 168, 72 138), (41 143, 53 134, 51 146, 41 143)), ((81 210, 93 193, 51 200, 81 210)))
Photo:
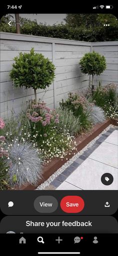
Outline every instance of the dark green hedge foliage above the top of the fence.
MULTIPOLYGON (((16 33, 15 23, 8 25, 8 19, 2 17, 0 31, 16 33)), ((94 27, 71 27, 67 24, 45 25, 37 24, 36 20, 20 18, 20 33, 26 35, 61 38, 69 40, 99 42, 99 41, 117 41, 118 40, 118 25, 111 24, 109 27, 94 26, 94 27)))

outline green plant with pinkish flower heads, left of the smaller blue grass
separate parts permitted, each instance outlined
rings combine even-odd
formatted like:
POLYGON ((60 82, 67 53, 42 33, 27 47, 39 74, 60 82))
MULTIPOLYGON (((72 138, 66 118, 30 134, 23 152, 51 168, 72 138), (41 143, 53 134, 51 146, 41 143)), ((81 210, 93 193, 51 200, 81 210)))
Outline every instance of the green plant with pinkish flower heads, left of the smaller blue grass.
POLYGON ((59 105, 62 109, 67 108, 73 112, 75 117, 79 117, 80 120, 80 132, 86 131, 90 128, 91 122, 89 120, 89 111, 88 111, 88 101, 83 95, 80 95, 78 92, 68 93, 68 98, 65 102, 59 102, 59 105))

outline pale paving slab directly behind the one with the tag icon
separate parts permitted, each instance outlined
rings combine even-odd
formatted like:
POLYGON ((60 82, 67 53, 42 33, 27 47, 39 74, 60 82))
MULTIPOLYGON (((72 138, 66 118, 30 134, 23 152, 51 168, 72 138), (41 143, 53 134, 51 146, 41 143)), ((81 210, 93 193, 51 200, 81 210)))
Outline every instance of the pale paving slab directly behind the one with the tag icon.
POLYGON ((91 153, 89 158, 117 168, 118 167, 117 146, 114 144, 102 142, 102 144, 100 144, 99 147, 91 153))

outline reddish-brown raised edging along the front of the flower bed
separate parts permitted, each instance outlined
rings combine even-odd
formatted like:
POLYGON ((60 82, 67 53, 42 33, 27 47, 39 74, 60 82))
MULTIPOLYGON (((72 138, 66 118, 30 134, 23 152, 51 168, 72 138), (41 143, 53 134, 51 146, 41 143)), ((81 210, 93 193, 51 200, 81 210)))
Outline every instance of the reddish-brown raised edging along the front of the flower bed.
MULTIPOLYGON (((79 152, 81 149, 83 149, 90 141, 95 139, 110 123, 113 125, 118 125, 117 120, 109 119, 109 120, 104 121, 103 123, 95 124, 94 127, 92 128, 92 130, 90 130, 90 132, 88 132, 87 134, 78 136, 75 139, 77 152, 79 152)), ((74 152, 77 153, 76 151, 74 151, 74 152)), ((52 159, 51 162, 49 162, 48 164, 44 164, 42 179, 37 182, 36 186, 27 184, 26 186, 21 186, 20 188, 16 187, 15 190, 34 190, 34 189, 36 189, 42 182, 47 180, 55 171, 57 171, 64 163, 66 163, 72 156, 73 156, 73 154, 71 154, 71 155, 68 154, 66 156, 67 160, 65 158, 62 161, 61 161, 61 159, 52 159)))

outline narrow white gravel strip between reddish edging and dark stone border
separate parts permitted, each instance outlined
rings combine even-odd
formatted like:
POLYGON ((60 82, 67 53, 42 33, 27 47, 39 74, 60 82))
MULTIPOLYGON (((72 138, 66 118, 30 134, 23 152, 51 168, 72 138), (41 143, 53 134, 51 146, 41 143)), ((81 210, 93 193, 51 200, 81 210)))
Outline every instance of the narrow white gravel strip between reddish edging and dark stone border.
POLYGON ((49 186, 50 182, 52 182, 60 173, 62 173, 67 167, 69 167, 80 155, 83 154, 88 148, 91 148, 92 145, 98 140, 102 134, 106 133, 110 128, 114 128, 115 126, 110 124, 104 129, 101 134, 99 134, 95 139, 89 142, 82 150, 80 150, 77 154, 75 154, 71 159, 69 159, 65 164, 63 164, 55 173, 53 173, 46 181, 40 184, 35 190, 44 190, 47 186, 49 186))

